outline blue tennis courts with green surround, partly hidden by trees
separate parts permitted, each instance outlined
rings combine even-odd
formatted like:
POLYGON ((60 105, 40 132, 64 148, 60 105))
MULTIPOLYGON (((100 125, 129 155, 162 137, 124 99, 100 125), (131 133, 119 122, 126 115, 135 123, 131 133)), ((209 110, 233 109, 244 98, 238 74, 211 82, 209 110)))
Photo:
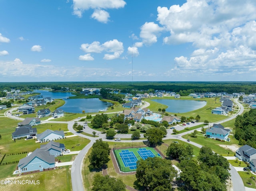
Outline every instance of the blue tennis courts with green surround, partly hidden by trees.
POLYGON ((114 154, 121 171, 135 171, 137 161, 145 160, 148 157, 161 157, 156 150, 150 147, 145 148, 128 148, 114 150, 114 154))

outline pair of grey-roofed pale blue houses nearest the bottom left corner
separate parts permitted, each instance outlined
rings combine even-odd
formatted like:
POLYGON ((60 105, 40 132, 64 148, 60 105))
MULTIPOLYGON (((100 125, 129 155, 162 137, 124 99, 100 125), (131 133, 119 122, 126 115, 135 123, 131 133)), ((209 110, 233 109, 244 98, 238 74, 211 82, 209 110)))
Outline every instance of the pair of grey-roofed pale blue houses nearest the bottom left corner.
POLYGON ((55 157, 62 155, 65 145, 50 141, 46 145, 28 154, 20 159, 18 163, 18 172, 25 173, 30 171, 43 171, 44 169, 55 168, 55 157))

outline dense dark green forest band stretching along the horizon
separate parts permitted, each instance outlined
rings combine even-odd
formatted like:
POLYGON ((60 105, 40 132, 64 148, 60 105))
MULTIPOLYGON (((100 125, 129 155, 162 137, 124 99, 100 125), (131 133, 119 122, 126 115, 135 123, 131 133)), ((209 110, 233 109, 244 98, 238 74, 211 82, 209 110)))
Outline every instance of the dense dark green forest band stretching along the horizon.
POLYGON ((188 95, 189 93, 226 92, 246 94, 256 92, 256 82, 2 82, 0 91, 20 89, 27 91, 49 87, 61 90, 68 87, 72 90, 81 88, 118 89, 124 93, 149 93, 154 90, 165 90, 188 95))

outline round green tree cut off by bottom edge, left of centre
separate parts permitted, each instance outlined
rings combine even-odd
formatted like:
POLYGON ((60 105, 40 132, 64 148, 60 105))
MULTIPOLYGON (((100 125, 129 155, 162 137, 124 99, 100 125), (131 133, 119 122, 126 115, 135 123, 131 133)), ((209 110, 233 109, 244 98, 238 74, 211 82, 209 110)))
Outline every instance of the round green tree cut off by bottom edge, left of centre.
POLYGON ((125 191, 125 184, 120 179, 109 175, 95 174, 93 177, 92 191, 125 191))

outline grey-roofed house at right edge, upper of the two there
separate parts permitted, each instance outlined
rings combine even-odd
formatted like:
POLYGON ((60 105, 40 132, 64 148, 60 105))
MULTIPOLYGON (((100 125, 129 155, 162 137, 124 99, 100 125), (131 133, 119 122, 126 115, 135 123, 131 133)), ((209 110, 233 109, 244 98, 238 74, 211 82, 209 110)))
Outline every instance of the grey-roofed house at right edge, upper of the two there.
POLYGON ((244 145, 236 150, 236 157, 242 161, 250 162, 251 159, 256 159, 256 149, 244 145))

